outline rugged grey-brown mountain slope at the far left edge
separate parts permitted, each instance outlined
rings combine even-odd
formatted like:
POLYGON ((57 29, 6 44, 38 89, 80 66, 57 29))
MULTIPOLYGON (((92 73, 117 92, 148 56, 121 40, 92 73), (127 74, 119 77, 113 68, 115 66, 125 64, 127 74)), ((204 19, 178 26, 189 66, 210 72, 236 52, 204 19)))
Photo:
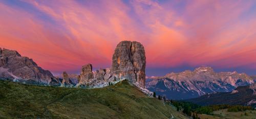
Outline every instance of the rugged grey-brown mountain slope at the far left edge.
POLYGON ((42 85, 59 83, 49 70, 37 66, 32 59, 7 49, 1 49, 0 53, 0 78, 42 85))

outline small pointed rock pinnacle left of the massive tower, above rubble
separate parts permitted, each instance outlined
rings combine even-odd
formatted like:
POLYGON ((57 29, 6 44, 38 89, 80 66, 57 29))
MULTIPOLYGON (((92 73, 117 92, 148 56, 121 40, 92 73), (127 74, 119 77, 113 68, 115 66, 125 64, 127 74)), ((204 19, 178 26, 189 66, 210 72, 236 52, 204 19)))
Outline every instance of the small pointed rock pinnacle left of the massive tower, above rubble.
POLYGON ((92 64, 82 66, 81 74, 78 76, 79 83, 89 82, 94 78, 92 68, 92 64))

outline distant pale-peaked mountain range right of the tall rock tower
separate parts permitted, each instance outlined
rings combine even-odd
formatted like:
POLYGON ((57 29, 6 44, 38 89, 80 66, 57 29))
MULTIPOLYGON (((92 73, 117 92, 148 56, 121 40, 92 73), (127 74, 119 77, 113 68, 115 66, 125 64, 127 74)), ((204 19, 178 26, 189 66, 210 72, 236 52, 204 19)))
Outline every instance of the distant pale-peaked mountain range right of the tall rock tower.
POLYGON ((170 73, 164 77, 146 80, 146 88, 168 99, 191 99, 207 93, 230 92, 238 86, 254 83, 252 77, 237 72, 215 73, 211 67, 199 67, 194 71, 170 73))

